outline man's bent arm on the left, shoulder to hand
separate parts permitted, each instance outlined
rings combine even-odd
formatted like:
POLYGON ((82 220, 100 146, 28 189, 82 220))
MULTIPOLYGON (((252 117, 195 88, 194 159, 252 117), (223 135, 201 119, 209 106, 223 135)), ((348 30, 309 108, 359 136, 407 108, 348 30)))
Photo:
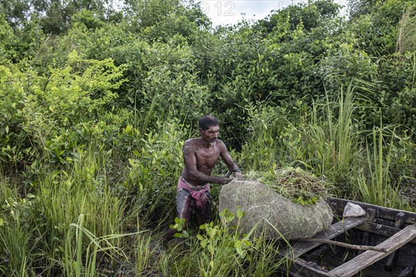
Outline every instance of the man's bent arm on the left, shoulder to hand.
POLYGON ((191 141, 185 141, 182 148, 182 153, 184 155, 184 164, 185 172, 188 181, 196 181, 201 183, 216 183, 216 184, 227 184, 231 181, 231 178, 228 177, 214 177, 206 175, 202 172, 199 172, 196 168, 196 149, 195 145, 191 141))

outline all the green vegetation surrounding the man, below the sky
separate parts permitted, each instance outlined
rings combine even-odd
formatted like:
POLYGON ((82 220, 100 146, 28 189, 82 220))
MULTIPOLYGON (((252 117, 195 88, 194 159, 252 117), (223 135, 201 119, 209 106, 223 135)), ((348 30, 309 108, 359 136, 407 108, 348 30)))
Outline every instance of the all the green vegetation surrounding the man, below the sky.
MULTIPOLYGON (((338 197, 410 209, 416 6, 349 2, 349 18, 319 0, 213 28, 193 1, 2 1, 1 272, 78 276, 71 228, 95 242, 155 230, 137 248, 112 237, 96 259, 114 272, 115 256, 157 263, 139 248, 173 222, 182 142, 205 114, 245 172, 300 166, 338 197)), ((182 258, 159 273, 198 276, 182 258)))

